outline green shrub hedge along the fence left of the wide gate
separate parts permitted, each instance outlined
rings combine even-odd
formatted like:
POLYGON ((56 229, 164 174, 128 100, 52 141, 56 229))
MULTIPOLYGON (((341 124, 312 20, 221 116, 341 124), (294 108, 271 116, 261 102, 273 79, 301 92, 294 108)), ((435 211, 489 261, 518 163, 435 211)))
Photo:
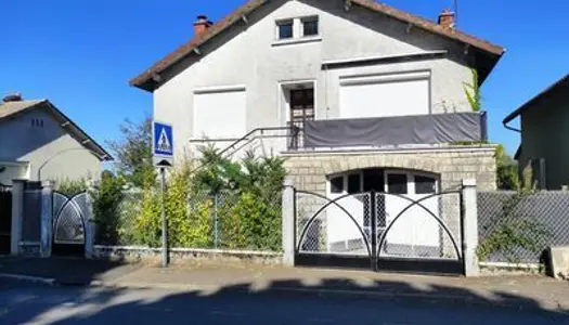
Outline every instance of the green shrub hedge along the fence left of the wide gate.
MULTIPOLYGON (((199 161, 202 167, 182 162, 170 170, 164 197, 169 246, 279 250, 281 188, 286 174, 283 162, 251 154, 231 161, 208 148, 199 161)), ((140 198, 132 199, 129 194, 121 197, 121 204, 105 203, 118 217, 115 223, 106 221, 108 226, 101 226, 107 233, 101 239, 161 246, 161 191, 154 172, 143 179, 140 198)), ((113 192, 118 198, 115 195, 113 192)))

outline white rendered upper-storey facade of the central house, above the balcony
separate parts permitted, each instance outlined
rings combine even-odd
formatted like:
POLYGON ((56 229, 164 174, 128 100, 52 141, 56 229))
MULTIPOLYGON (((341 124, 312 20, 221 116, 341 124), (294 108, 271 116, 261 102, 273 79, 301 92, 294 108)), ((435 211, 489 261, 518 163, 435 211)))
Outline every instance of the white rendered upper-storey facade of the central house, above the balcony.
POLYGON ((230 144, 255 128, 286 126, 295 87, 313 87, 316 119, 470 109, 463 48, 442 37, 359 6, 346 12, 344 1, 271 1, 247 21, 201 47, 198 62, 178 64, 155 90, 155 118, 173 125, 178 155, 191 140, 230 144), (303 17, 318 17, 318 36, 300 37, 303 17), (280 41, 276 24, 286 20, 296 37, 280 41), (349 64, 434 51, 448 54, 349 64))

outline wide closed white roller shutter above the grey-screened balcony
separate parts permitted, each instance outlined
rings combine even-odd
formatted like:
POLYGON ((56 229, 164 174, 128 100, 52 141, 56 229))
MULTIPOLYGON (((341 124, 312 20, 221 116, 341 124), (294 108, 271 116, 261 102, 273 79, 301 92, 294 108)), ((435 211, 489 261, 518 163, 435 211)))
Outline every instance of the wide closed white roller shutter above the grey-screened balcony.
POLYGON ((340 79, 340 117, 429 114, 429 73, 340 79))

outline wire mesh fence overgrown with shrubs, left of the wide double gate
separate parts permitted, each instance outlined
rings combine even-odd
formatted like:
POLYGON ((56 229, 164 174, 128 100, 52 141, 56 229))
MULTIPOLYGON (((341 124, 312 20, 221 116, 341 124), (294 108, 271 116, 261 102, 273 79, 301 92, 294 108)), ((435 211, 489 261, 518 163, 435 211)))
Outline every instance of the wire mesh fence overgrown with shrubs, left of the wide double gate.
MULTIPOLYGON (((281 193, 251 194, 238 191, 221 191, 218 194, 191 193, 185 202, 184 218, 178 216, 172 220, 167 209, 170 239, 176 242, 177 238, 184 237, 181 242, 192 243, 173 244, 180 248, 281 250, 281 193)), ((143 217, 143 213, 148 213, 159 202, 159 194, 154 192, 124 193, 118 208, 118 245, 158 245, 154 242, 145 242, 152 240, 147 238, 153 236, 152 230, 142 230, 139 221, 141 218, 147 218, 147 216, 143 217), (146 211, 143 211, 145 195, 147 206, 146 211), (146 231, 147 236, 142 236, 143 231, 146 231)), ((158 206, 154 208, 159 211, 158 206)))

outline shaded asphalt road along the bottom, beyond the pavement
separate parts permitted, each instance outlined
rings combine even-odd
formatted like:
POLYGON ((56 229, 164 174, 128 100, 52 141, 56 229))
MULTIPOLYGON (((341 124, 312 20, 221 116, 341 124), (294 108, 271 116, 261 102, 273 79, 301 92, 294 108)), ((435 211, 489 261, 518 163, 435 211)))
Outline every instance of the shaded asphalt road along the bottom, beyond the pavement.
POLYGON ((4 281, 0 324, 534 325, 569 324, 569 315, 409 298, 43 287, 4 281))

